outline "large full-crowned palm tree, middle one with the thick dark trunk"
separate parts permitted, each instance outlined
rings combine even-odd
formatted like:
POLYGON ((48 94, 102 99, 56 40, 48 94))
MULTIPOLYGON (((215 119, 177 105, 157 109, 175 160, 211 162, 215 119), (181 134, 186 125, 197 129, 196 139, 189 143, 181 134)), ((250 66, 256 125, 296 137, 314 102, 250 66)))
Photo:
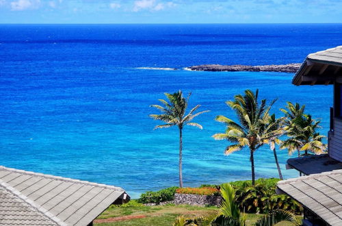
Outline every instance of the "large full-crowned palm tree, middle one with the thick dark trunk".
POLYGON ((233 145, 226 147, 224 153, 229 155, 235 151, 241 150, 243 147, 250 149, 250 162, 252 168, 252 185, 255 184, 254 173, 254 152, 263 146, 265 140, 269 140, 281 134, 281 131, 272 130, 273 124, 268 124, 269 110, 273 103, 266 105, 266 100, 261 100, 258 103, 259 90, 254 93, 251 90, 245 90, 245 95, 235 95, 234 101, 226 101, 239 119, 238 123, 226 118, 226 116, 217 116, 216 121, 226 124, 226 131, 224 134, 214 134, 215 140, 228 140, 233 145))

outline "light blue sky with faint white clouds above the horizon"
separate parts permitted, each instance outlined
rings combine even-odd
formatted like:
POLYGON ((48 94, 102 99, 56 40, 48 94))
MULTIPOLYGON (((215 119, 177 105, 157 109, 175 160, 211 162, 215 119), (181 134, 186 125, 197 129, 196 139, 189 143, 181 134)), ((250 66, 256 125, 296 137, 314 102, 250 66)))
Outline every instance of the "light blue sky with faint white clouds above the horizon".
POLYGON ((0 23, 342 23, 342 0, 0 0, 0 23))

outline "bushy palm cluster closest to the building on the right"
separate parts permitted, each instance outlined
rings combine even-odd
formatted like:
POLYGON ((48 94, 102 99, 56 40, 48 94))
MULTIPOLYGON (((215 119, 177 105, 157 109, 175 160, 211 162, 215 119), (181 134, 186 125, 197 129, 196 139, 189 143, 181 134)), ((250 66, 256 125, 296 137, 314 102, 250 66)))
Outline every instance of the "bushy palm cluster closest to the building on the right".
POLYGON ((304 105, 302 108, 299 106, 296 103, 293 108, 293 104, 288 102, 288 111, 282 109, 287 117, 284 129, 288 138, 282 142, 280 148, 288 149, 289 154, 297 151, 298 157, 300 157, 300 151, 304 151, 304 155, 308 155, 309 151, 315 154, 324 153, 327 145, 322 142, 322 139, 326 136, 317 132, 320 128, 320 121, 315 121, 310 114, 304 114, 304 105))

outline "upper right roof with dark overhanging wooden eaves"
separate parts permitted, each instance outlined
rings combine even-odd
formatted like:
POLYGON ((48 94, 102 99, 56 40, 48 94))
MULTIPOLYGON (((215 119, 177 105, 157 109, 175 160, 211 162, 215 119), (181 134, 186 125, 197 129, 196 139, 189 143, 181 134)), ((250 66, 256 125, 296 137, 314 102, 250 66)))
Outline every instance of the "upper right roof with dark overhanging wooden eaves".
POLYGON ((342 46, 309 54, 292 79, 292 84, 333 84, 342 76, 342 46))

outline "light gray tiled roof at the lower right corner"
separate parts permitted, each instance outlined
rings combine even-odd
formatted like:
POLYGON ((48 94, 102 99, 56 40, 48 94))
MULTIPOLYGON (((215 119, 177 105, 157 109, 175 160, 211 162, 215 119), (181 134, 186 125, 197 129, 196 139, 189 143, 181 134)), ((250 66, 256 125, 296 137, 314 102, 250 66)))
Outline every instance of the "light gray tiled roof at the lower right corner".
POLYGON ((342 170, 279 181, 287 193, 329 225, 342 225, 342 170))

